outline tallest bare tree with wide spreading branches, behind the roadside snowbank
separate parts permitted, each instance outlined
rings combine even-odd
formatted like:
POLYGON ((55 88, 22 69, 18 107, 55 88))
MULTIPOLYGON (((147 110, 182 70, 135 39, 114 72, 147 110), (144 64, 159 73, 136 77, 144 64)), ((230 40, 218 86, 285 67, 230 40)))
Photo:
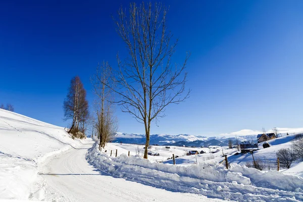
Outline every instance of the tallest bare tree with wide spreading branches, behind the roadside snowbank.
POLYGON ((147 159, 151 121, 164 117, 169 104, 179 104, 188 96, 185 67, 172 63, 177 41, 166 28, 167 10, 161 3, 130 4, 129 12, 121 7, 116 21, 117 32, 126 44, 129 56, 118 58, 117 90, 123 112, 144 124, 147 159))

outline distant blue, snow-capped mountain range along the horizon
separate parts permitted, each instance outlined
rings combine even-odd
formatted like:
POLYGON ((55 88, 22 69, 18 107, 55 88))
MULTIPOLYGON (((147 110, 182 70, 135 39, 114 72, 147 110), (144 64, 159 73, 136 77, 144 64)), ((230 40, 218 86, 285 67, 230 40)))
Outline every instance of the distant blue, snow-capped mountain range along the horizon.
MULTIPOLYGON (((159 145, 175 145, 175 146, 227 146, 228 140, 235 141, 235 137, 205 137, 205 136, 194 136, 188 134, 179 135, 163 135, 163 134, 152 134, 150 135, 149 144, 159 145)), ((254 141, 257 142, 257 135, 245 135, 238 136, 239 141, 254 141)), ((116 139, 113 142, 122 142, 128 144, 145 144, 144 134, 126 134, 118 133, 116 139)))

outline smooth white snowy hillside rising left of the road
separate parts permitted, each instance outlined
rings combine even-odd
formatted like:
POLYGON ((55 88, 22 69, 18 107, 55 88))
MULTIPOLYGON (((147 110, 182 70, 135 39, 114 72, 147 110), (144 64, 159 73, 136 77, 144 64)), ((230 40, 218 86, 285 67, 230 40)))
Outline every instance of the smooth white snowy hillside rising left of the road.
POLYGON ((80 144, 62 127, 0 109, 0 199, 28 199, 38 166, 80 144))

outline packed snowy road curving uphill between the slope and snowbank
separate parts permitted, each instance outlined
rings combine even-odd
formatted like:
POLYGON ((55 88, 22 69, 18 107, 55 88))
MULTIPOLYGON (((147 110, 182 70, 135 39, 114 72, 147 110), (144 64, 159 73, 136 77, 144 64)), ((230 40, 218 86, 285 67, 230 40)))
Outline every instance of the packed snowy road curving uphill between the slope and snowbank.
POLYGON ((41 172, 47 201, 222 201, 192 193, 171 192, 121 178, 93 168, 85 154, 93 144, 87 141, 47 163, 41 172))

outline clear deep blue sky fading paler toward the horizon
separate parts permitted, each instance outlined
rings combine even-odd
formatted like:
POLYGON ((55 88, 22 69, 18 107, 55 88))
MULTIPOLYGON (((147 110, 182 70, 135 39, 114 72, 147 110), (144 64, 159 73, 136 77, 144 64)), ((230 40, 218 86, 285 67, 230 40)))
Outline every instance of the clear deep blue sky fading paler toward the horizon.
MULTIPOLYGON (((303 125, 303 1, 165 1, 179 38, 175 61, 191 51, 190 98, 167 108, 152 133, 216 135, 303 125)), ((63 101, 98 62, 116 67, 125 45, 111 15, 126 1, 4 1, 0 5, 0 103, 66 126, 63 101)), ((144 133, 117 109, 119 131, 144 133)))

